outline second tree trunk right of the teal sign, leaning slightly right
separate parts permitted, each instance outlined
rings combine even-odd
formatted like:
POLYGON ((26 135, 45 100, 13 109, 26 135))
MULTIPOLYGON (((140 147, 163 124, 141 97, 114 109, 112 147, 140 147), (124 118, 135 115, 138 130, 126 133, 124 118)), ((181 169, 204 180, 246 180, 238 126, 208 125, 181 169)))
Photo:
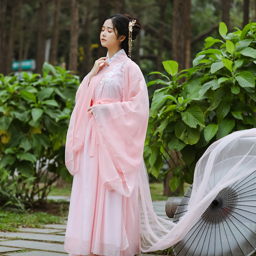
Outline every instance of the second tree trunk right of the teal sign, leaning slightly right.
POLYGON ((57 60, 57 48, 59 41, 59 20, 60 20, 60 0, 55 0, 55 12, 54 12, 54 23, 52 32, 52 45, 50 54, 50 64, 55 65, 54 62, 57 60))

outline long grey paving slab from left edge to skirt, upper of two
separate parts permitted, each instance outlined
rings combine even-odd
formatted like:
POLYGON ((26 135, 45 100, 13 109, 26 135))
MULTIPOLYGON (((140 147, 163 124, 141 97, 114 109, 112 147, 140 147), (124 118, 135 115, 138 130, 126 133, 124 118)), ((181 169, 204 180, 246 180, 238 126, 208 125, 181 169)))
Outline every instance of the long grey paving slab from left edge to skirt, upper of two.
POLYGON ((65 241, 65 237, 63 237, 63 236, 21 233, 21 232, 0 232, 0 236, 19 237, 19 238, 24 238, 24 239, 56 241, 56 242, 64 242, 65 241))

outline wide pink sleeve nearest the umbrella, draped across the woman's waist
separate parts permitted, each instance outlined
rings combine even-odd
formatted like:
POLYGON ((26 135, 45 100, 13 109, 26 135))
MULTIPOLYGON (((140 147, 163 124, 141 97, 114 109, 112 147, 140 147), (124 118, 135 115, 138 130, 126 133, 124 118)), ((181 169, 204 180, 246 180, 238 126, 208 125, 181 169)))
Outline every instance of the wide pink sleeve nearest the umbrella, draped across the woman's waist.
POLYGON ((99 134, 100 176, 108 190, 130 196, 140 172, 148 125, 148 90, 140 68, 127 61, 122 102, 91 107, 99 134))

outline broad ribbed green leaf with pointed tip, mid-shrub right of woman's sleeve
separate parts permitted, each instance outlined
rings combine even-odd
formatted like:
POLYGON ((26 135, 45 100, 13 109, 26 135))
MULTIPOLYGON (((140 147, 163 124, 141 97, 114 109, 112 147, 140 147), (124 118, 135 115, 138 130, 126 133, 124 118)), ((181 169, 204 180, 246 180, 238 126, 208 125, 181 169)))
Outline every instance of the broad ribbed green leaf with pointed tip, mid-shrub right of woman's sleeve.
POLYGON ((198 106, 189 107, 186 111, 181 112, 183 121, 192 128, 196 128, 197 124, 205 127, 204 113, 198 106))

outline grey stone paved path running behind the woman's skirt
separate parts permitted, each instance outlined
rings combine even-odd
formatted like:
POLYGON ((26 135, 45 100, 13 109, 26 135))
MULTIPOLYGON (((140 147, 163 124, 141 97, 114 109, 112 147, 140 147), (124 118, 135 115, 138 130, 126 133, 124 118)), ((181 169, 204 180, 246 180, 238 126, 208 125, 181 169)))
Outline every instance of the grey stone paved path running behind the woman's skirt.
MULTIPOLYGON (((51 199, 63 199, 52 196, 51 199)), ((65 198, 70 201, 70 198, 65 198)), ((156 214, 165 214, 165 202, 153 202, 156 214)), ((64 221, 67 223, 67 220, 64 221)), ((19 232, 0 232, 0 256, 67 256, 64 251, 66 224, 47 224, 45 228, 19 228, 19 232)), ((154 256, 142 254, 143 256, 154 256)))

